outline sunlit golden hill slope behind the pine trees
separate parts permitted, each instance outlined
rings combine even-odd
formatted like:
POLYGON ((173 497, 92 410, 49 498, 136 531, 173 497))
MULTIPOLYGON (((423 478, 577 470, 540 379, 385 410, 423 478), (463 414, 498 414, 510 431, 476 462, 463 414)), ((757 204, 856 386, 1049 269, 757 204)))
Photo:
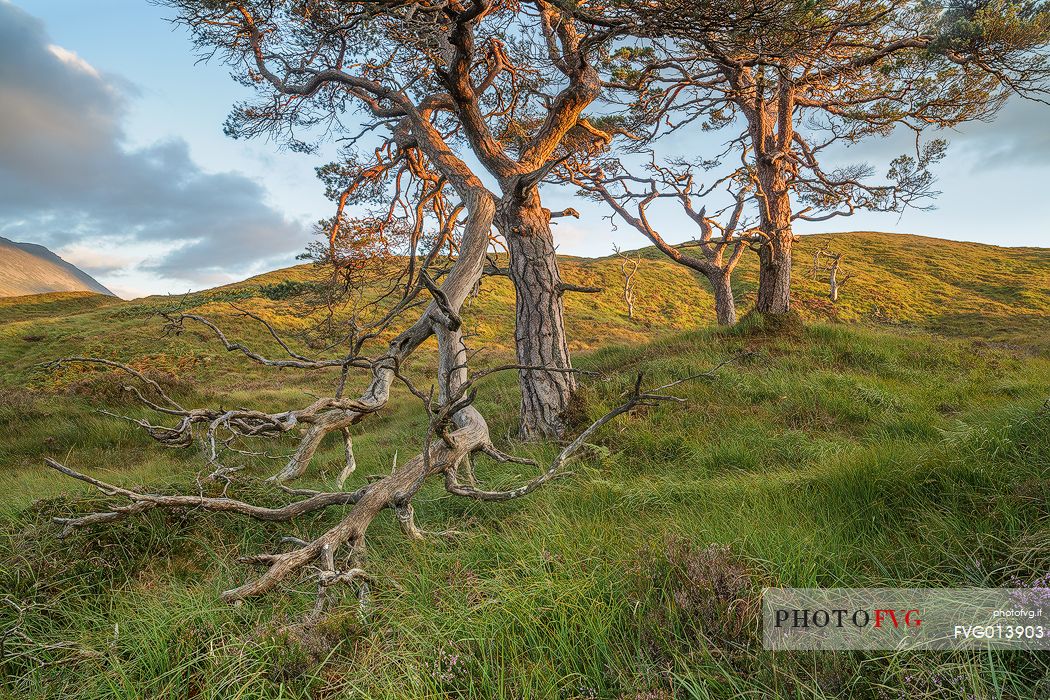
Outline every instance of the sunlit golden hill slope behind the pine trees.
MULTIPOLYGON (((646 342, 714 322, 706 280, 652 249, 636 254, 643 259, 635 277, 634 318, 628 317, 623 300, 618 259, 562 258, 567 281, 604 288, 600 294, 570 293, 565 297, 572 352, 646 342)), ((309 285, 316 274, 309 266, 298 266, 185 297, 120 301, 89 294, 58 294, 0 300, 0 385, 29 382, 36 364, 70 354, 139 361, 163 356, 166 359, 158 362, 193 365, 205 381, 233 369, 242 377, 265 376, 227 356, 213 339, 196 333, 201 328, 177 337, 164 336, 163 322, 154 314, 176 306, 193 310, 215 317, 230 330, 231 337, 280 354, 266 330, 247 321, 231 302, 262 315, 294 337, 310 325, 310 319, 297 309, 301 298, 295 284, 309 285)), ((754 256, 748 255, 734 277, 741 315, 753 304, 756 277, 754 256)), ((804 236, 796 249, 794 296, 811 321, 864 322, 966 338, 1011 352, 1050 354, 1047 249, 996 248, 880 233, 804 236), (808 270, 813 252, 828 241, 833 250, 846 253, 843 264, 853 275, 835 304, 827 300, 826 283, 813 279, 808 270)), ((474 334, 472 346, 485 348, 488 356, 512 353, 513 289, 509 280, 486 278, 479 294, 468 301, 464 320, 474 334)))

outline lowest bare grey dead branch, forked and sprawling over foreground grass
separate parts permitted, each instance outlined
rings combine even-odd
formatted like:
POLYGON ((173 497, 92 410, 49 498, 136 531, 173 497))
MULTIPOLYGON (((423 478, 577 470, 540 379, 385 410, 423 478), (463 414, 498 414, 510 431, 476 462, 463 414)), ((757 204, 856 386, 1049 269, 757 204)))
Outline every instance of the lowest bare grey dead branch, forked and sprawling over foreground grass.
MULTIPOLYGON (((444 333, 455 332, 446 330, 444 333)), ((477 395, 475 387, 477 379, 464 378, 464 375, 459 374, 459 379, 449 375, 446 380, 446 389, 437 402, 430 400, 429 397, 425 402, 430 421, 422 453, 400 466, 395 466, 387 476, 362 486, 352 493, 303 492, 288 489, 296 493, 309 493, 309 495, 280 508, 265 508, 228 497, 143 493, 114 486, 54 460, 47 460, 48 467, 90 484, 107 495, 129 502, 127 505, 113 506, 108 511, 76 518, 56 518, 56 522, 63 525, 64 535, 76 528, 110 523, 153 508, 227 512, 256 519, 282 522, 324 508, 348 507, 349 511, 337 524, 313 540, 293 538, 291 542, 294 549, 290 551, 244 557, 243 563, 262 565, 266 567, 266 571, 257 578, 222 593, 223 599, 227 602, 238 602, 247 597, 259 595, 273 589, 277 584, 307 566, 317 565, 319 571, 317 574, 318 608, 315 609, 315 614, 317 614, 317 611, 323 606, 322 601, 330 587, 338 582, 366 579, 368 574, 356 565, 363 554, 365 532, 372 521, 382 510, 391 509, 394 511, 402 532, 408 538, 423 538, 423 532, 415 523, 412 499, 418 493, 427 478, 443 474, 445 488, 449 493, 479 501, 508 501, 527 495, 559 476, 566 462, 602 426, 630 411, 635 406, 654 405, 663 401, 682 401, 682 399, 669 396, 664 391, 687 379, 695 379, 700 376, 710 377, 723 364, 726 363, 723 362, 718 367, 702 375, 677 380, 652 390, 642 388, 643 377, 638 375, 624 403, 588 426, 562 449, 540 474, 513 489, 490 491, 479 488, 476 485, 472 467, 469 468, 466 483, 460 482, 459 466, 470 464, 470 460, 478 453, 487 454, 501 462, 531 465, 536 465, 536 463, 505 454, 491 444, 485 420, 472 405, 477 395), (348 560, 354 563, 354 566, 339 568, 335 553, 340 548, 346 549, 348 560)), ((462 373, 464 369, 456 372, 462 373)), ((490 373, 480 374, 487 376, 490 373)))

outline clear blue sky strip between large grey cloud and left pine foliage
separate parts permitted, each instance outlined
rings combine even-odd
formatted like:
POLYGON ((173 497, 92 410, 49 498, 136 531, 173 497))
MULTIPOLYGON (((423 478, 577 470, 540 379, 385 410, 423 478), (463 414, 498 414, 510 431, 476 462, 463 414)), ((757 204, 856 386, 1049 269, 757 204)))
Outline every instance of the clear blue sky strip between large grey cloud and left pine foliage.
POLYGON ((105 75, 125 79, 130 149, 182 139, 202 168, 236 170, 259 179, 271 201, 297 217, 319 218, 330 207, 314 176, 318 157, 264 141, 223 133, 230 106, 248 91, 218 63, 197 63, 188 36, 166 21, 170 9, 146 0, 21 0, 42 19, 51 40, 105 75))

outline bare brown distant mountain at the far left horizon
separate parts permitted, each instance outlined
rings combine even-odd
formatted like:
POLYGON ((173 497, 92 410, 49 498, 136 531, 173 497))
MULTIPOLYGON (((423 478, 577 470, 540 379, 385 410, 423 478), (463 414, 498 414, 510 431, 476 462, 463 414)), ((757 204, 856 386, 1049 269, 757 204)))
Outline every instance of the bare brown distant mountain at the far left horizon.
POLYGON ((48 292, 96 292, 117 296, 43 246, 17 243, 0 237, 0 297, 48 292))

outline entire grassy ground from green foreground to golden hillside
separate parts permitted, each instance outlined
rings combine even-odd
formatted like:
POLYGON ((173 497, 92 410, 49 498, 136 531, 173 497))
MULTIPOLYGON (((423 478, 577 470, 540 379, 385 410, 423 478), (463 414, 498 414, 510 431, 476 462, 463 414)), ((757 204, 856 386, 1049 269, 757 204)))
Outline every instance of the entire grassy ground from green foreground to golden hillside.
MULTIPOLYGON (((64 355, 147 370, 186 405, 274 410, 330 391, 331 373, 260 368, 206 328, 165 335, 155 314, 193 310, 276 354, 231 303, 295 334, 294 284, 278 271, 185 298, 0 299, 0 694, 10 698, 1050 698, 1036 653, 778 653, 761 649, 763 586, 1024 586, 1050 573, 1050 251, 919 236, 807 236, 797 247, 800 318, 712 325, 695 278, 642 251, 635 318, 615 258, 565 258, 578 284, 567 326, 584 379, 573 421, 620 402, 636 373, 684 404, 638 410, 600 432, 571 473, 528 497, 483 504, 429 484, 411 543, 394 518, 369 531, 368 606, 352 591, 319 627, 308 577, 240 607, 220 590, 237 557, 310 537, 338 509, 291 524, 152 512, 59 539, 54 516, 110 501, 43 468, 52 457, 125 486, 218 493, 195 448, 151 443, 99 407, 145 418, 109 372, 48 372, 64 355), (811 279, 831 238, 855 277, 837 304, 811 279), (281 284, 285 284, 281 287, 281 284)), ((754 294, 746 260, 740 311, 754 294)), ((480 361, 506 359, 512 290, 486 279, 464 320, 480 361)), ((410 373, 425 378, 427 352, 410 373)), ((514 377, 482 383, 479 408, 502 447, 520 445, 514 377)), ((348 486, 419 450, 424 417, 405 391, 354 428, 348 486)), ((289 439, 271 447, 287 451, 289 439)), ((297 483, 331 489, 342 446, 326 443, 297 483)), ((230 487, 293 499, 259 458, 230 487), (245 475, 247 474, 247 475, 245 475)), ((529 478, 481 461, 498 487, 529 478)))

